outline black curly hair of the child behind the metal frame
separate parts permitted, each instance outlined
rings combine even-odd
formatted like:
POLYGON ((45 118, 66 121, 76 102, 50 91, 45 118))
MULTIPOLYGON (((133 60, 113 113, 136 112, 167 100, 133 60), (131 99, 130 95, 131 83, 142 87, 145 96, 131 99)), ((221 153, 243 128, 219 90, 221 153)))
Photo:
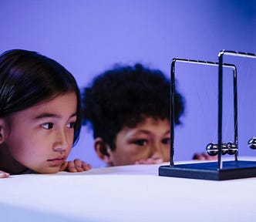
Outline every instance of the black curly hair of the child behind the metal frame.
MULTIPOLYGON (((184 113, 184 99, 175 93, 175 124, 184 113)), ((82 93, 83 124, 91 123, 93 137, 101 137, 115 150, 116 134, 146 117, 170 119, 170 79, 141 64, 116 66, 93 80, 82 93)))

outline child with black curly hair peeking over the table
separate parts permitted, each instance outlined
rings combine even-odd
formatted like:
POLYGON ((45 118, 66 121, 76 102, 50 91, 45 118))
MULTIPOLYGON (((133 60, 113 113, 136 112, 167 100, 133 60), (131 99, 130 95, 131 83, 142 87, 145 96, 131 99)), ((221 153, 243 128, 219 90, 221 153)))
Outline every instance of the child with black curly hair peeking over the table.
MULTIPOLYGON (((174 121, 184 99, 176 93, 174 121)), ((170 79, 136 64, 117 66, 83 92, 83 124, 93 128, 94 148, 109 167, 170 161, 170 79)))

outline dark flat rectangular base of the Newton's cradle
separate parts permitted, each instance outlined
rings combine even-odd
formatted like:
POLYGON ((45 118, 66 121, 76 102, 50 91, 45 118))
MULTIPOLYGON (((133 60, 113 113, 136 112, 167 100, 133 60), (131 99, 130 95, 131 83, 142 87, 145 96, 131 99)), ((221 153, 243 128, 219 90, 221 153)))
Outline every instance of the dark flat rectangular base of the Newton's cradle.
POLYGON ((232 180, 256 177, 256 161, 224 161, 217 170, 217 162, 177 164, 159 167, 159 176, 203 180, 232 180))

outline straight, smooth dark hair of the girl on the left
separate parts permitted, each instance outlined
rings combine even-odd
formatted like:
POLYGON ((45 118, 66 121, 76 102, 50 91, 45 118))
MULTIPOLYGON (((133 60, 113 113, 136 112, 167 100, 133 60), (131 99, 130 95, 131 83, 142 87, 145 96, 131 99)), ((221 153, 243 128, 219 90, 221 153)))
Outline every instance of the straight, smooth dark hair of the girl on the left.
POLYGON ((13 49, 0 55, 0 117, 74 92, 77 121, 74 143, 82 123, 81 99, 76 79, 63 66, 38 52, 13 49))

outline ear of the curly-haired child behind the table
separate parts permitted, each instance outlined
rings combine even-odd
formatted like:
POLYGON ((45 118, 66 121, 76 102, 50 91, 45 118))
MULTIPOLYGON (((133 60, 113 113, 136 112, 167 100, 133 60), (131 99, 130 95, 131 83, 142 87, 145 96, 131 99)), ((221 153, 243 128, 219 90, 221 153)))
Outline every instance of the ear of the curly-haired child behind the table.
POLYGON ((109 145, 103 140, 103 138, 97 137, 94 140, 94 149, 101 160, 103 160, 108 165, 111 165, 113 162, 111 158, 112 151, 109 145))

